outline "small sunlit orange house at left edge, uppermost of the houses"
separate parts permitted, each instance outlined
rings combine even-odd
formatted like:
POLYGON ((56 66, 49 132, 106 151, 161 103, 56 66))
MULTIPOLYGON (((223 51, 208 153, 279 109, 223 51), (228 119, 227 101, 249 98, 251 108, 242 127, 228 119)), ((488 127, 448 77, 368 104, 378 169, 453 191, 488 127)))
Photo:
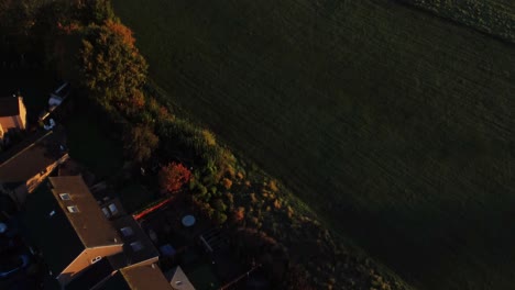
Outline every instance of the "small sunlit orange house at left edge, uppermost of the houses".
POLYGON ((26 109, 22 97, 0 98, 0 140, 10 130, 25 130, 26 109))

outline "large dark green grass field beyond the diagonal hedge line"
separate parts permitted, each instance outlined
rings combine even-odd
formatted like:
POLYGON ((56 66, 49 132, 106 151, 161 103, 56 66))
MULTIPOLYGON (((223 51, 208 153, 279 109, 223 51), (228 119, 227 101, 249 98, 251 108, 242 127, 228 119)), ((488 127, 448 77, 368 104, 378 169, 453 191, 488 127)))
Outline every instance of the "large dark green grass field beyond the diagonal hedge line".
POLYGON ((515 283, 515 47, 394 1, 114 0, 151 75, 420 289, 515 283))

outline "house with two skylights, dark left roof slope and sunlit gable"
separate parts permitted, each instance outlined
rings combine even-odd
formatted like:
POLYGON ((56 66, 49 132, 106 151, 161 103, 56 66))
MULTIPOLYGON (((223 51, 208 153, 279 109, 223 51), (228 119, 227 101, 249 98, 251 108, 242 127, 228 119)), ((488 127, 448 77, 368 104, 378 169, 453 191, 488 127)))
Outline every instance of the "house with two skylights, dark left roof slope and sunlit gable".
POLYGON ((123 252, 123 241, 106 219, 80 176, 50 177, 25 202, 24 224, 52 276, 65 287, 84 270, 123 252))

